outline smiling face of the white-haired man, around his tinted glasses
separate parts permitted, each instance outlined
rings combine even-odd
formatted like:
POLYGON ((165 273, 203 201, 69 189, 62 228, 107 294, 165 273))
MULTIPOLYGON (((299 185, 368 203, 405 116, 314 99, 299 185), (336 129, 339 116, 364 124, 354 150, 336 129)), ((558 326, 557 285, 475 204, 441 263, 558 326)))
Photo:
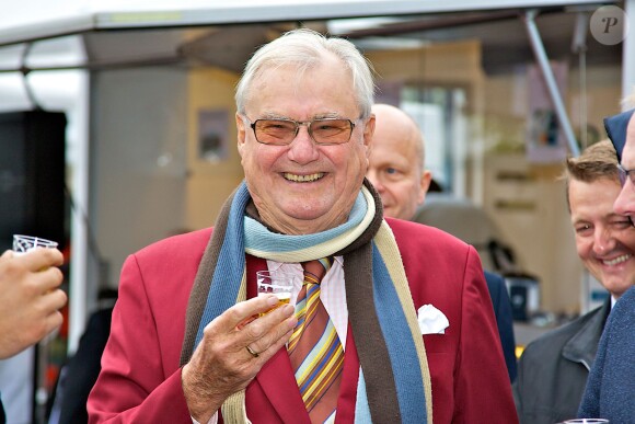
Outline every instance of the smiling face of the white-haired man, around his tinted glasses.
POLYGON ((236 115, 238 147, 247 187, 261 218, 287 234, 307 234, 346 221, 368 167, 374 116, 359 121, 353 80, 333 56, 303 72, 293 66, 266 69, 253 81, 245 105, 251 122, 307 122, 338 117, 356 125, 346 144, 318 146, 301 126, 288 146, 259 144, 236 115))

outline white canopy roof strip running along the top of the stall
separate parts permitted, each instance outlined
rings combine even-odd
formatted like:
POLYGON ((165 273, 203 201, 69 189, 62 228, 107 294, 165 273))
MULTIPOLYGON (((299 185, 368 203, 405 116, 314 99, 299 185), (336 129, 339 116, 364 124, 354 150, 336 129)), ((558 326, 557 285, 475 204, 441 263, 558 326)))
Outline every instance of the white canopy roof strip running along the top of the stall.
POLYGON ((86 31, 605 4, 597 0, 31 0, 0 14, 0 45, 86 31))

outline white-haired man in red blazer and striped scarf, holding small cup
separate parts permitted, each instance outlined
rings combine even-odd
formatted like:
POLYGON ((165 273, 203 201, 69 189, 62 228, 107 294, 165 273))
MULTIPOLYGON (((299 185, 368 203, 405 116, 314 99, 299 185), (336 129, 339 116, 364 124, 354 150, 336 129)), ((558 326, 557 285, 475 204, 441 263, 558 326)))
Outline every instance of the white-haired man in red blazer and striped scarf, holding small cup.
POLYGON ((245 181, 213 230, 126 260, 91 422, 517 422, 476 251, 384 220, 365 180, 373 87, 351 43, 310 30, 254 54, 235 96, 245 181), (296 305, 256 296, 275 268, 301 277, 296 305), (312 330, 324 343, 295 355, 312 330))

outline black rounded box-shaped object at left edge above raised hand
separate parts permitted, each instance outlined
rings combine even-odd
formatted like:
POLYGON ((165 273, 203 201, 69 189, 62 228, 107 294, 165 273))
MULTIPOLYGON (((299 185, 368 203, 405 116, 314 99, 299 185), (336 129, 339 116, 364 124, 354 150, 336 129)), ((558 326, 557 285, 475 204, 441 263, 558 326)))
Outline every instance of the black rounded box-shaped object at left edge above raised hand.
POLYGON ((66 115, 0 114, 0 252, 13 234, 66 244, 66 115))

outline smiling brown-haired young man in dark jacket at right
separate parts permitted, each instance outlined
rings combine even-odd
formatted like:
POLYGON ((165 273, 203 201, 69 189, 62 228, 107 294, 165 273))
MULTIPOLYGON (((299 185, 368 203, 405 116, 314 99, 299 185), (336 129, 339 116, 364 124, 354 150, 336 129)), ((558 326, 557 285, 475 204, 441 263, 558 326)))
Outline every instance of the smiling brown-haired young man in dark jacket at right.
POLYGON ((609 140, 567 160, 567 203, 578 256, 611 296, 602 307, 527 346, 513 385, 521 423, 576 417, 611 306, 635 284, 635 228, 613 208, 621 191, 616 164, 609 140))

